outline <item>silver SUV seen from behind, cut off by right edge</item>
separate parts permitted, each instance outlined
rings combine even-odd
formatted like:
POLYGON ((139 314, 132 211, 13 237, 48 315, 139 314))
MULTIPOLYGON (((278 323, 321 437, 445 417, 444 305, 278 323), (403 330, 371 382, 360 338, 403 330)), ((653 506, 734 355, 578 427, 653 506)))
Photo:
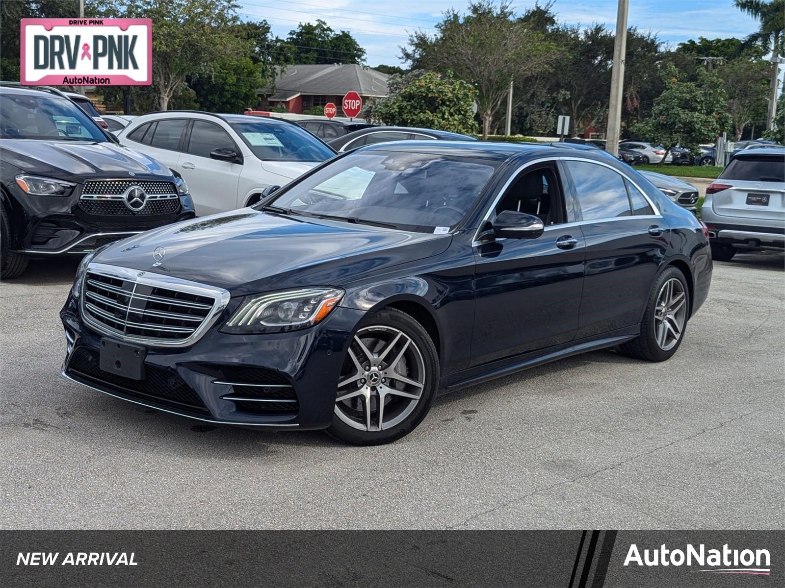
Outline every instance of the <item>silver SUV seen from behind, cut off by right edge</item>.
POLYGON ((738 249, 785 250, 785 148, 745 149, 706 188, 701 219, 714 260, 738 249))

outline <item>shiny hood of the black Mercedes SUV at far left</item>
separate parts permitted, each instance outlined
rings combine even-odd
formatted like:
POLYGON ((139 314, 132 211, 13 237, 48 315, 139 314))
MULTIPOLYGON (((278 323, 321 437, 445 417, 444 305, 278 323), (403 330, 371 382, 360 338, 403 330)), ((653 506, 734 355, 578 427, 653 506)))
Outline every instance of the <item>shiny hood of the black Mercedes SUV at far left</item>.
POLYGON ((170 169, 148 155, 115 143, 14 139, 2 141, 3 159, 40 176, 82 183, 91 177, 170 179, 170 169))

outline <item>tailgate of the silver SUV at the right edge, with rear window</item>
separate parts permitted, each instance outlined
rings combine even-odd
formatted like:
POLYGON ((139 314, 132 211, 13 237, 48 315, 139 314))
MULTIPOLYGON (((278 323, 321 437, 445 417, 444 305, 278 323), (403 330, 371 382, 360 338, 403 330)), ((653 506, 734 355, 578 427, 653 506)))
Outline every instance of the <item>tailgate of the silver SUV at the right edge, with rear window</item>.
POLYGON ((714 187, 719 190, 711 198, 714 214, 785 220, 785 158, 780 154, 737 154, 714 187))

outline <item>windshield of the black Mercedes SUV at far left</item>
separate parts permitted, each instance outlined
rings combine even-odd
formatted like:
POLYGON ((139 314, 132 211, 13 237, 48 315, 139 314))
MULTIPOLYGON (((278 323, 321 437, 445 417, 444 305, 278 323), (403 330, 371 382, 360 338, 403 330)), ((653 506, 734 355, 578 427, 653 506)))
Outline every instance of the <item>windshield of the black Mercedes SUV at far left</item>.
POLYGON ((71 100, 19 94, 0 95, 0 139, 108 141, 71 100))

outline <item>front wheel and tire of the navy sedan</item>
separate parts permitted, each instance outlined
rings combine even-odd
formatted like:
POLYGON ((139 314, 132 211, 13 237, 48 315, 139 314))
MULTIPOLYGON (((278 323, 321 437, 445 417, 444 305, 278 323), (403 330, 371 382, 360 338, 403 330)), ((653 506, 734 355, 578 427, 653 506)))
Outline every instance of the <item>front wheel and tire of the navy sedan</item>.
POLYGON ((428 414, 438 384, 439 358, 425 328, 394 308, 368 314, 346 352, 327 434, 351 445, 397 441, 428 414))

